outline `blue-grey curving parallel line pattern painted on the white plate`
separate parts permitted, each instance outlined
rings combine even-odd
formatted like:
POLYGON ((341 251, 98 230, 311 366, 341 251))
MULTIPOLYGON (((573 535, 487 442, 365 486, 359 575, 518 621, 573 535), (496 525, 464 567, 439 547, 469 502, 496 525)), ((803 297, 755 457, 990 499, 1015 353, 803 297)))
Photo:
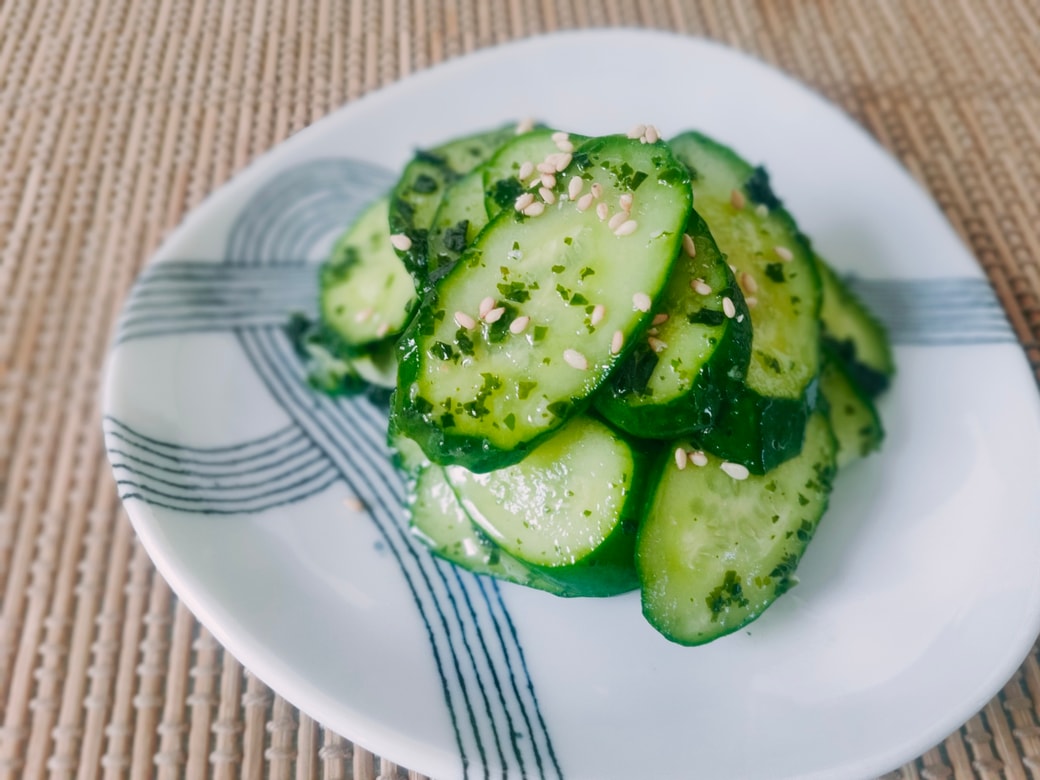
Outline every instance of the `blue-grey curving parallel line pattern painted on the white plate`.
MULTIPOLYGON (((249 514, 343 483, 368 508, 424 626, 463 776, 562 778, 516 626, 494 579, 430 554, 408 529, 405 485, 386 446, 386 410, 365 397, 315 393, 284 332, 317 308, 316 266, 343 226, 393 183, 366 162, 323 159, 276 176, 232 226, 225 259, 170 260, 136 283, 116 344, 232 333, 292 422, 252 441, 200 448, 106 418, 120 495, 199 514, 249 514)), ((894 344, 1016 343, 981 278, 863 280, 850 286, 894 344)))

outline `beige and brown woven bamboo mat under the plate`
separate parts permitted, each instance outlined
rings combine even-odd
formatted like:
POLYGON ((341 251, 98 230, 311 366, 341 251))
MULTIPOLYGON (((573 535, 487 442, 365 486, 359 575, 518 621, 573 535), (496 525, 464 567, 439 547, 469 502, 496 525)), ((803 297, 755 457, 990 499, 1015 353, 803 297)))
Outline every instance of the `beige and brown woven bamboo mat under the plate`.
MULTIPOLYGON (((1032 0, 5 0, 0 776, 418 777, 268 691, 156 575, 103 456, 100 366, 163 235, 256 155, 441 60, 606 25, 717 38, 841 106, 934 196, 1040 366, 1032 0)), ((892 777, 1040 777, 1040 650, 892 777)))

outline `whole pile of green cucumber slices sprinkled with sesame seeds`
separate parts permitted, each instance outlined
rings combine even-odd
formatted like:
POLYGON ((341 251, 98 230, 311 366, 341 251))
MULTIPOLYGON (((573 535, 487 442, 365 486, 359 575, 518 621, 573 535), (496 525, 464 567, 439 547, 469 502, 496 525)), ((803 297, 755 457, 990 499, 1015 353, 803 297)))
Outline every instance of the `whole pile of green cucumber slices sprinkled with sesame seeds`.
POLYGON ((416 153, 293 324, 327 392, 392 389, 408 517, 470 571, 639 589, 709 642, 797 580, 877 449, 878 321, 762 167, 697 132, 496 128, 416 153))

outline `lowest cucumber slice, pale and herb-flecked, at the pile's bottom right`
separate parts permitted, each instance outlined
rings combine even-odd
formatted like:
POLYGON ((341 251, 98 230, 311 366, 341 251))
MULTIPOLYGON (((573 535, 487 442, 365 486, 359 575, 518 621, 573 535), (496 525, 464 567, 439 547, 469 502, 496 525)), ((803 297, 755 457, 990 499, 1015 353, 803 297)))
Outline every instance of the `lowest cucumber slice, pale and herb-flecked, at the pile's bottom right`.
POLYGON ((635 553, 651 625, 673 642, 700 645, 747 625, 789 590, 827 509, 834 450, 827 417, 816 412, 802 452, 764 476, 736 479, 713 456, 701 467, 666 466, 635 553))

